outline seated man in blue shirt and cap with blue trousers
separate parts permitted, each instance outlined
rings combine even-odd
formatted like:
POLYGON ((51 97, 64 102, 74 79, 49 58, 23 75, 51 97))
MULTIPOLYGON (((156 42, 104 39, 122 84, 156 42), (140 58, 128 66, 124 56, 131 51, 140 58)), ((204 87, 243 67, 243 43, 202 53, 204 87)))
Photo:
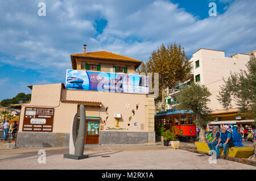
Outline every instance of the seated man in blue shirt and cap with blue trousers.
POLYGON ((221 136, 220 136, 220 139, 218 140, 218 144, 216 145, 216 155, 217 155, 217 158, 220 158, 220 148, 223 148, 224 149, 224 159, 226 158, 226 151, 228 150, 229 148, 229 140, 231 138, 231 134, 230 132, 227 131, 227 128, 226 127, 222 127, 221 128, 221 136))

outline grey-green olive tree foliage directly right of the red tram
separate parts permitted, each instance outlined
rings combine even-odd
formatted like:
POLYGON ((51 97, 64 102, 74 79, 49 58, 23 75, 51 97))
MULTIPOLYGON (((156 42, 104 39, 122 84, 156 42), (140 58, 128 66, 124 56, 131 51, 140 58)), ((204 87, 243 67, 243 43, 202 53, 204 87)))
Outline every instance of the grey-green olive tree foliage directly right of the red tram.
POLYGON ((179 110, 191 110, 196 117, 196 124, 201 128, 207 126, 210 117, 210 108, 207 106, 210 101, 210 92, 207 87, 199 83, 192 82, 191 86, 181 88, 177 101, 179 110))

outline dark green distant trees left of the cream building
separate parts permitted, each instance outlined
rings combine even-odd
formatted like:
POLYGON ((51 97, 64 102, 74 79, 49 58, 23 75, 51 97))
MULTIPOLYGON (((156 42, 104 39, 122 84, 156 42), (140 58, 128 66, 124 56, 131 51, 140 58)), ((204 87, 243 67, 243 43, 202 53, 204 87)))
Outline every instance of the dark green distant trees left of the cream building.
POLYGON ((31 94, 24 94, 20 92, 15 97, 11 99, 3 99, 0 104, 1 106, 10 106, 10 104, 19 104, 19 103, 26 103, 31 100, 31 94))

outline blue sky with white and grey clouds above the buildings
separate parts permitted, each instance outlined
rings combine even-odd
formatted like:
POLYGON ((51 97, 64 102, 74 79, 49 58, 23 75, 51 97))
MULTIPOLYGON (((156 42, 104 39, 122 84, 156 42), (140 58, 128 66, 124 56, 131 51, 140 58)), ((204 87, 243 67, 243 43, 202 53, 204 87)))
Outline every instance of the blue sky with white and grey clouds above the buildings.
POLYGON ((199 48, 232 56, 256 50, 255 32, 255 0, 0 0, 0 100, 64 83, 83 44, 142 61, 174 42, 188 56, 199 48), (38 15, 40 2, 46 16, 38 15))

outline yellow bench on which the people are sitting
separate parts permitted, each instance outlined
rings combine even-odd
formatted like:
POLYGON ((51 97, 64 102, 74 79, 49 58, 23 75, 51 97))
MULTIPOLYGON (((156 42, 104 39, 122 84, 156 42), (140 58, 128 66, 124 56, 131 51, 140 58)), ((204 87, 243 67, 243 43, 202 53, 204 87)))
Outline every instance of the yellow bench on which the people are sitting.
MULTIPOLYGON (((205 142, 195 142, 196 149, 199 151, 204 151, 209 153, 210 149, 207 143, 205 142)), ((223 148, 220 149, 220 155, 223 155, 223 148)), ((254 147, 245 146, 245 147, 232 147, 228 148, 228 157, 235 157, 235 158, 249 158, 251 155, 254 154, 254 147)))

